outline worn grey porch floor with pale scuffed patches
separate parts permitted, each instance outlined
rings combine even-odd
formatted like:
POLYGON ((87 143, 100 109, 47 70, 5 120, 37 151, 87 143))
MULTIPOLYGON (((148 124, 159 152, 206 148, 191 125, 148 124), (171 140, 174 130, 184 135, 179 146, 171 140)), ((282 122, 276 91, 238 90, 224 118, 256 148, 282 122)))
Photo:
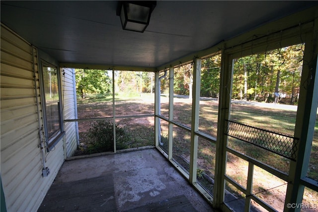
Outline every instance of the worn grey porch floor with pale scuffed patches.
MULTIPOLYGON (((76 192, 79 194, 78 199, 72 194, 73 201, 75 198, 75 201, 89 205, 90 203, 85 203, 83 196, 89 189, 93 190, 93 194, 100 196, 98 200, 94 200, 100 206, 104 206, 108 200, 114 201, 115 209, 109 205, 108 210, 94 208, 94 211, 213 212, 211 205, 156 148, 65 161, 39 211, 54 211, 56 208, 52 207, 56 207, 57 204, 75 205, 76 203, 71 201, 59 202, 57 197, 53 197, 61 196, 54 193, 54 188, 60 186, 67 188, 66 190, 73 190, 70 187, 72 185, 82 187, 76 192), (104 192, 110 184, 113 185, 112 191, 100 193, 104 192), (172 200, 174 202, 170 204, 172 200), (50 202, 54 202, 55 206, 48 205, 50 202), (163 207, 162 204, 167 205, 163 207), (172 210, 171 205, 178 205, 176 207, 179 208, 172 210)), ((60 199, 66 200, 67 197, 64 195, 60 199)), ((93 211, 91 208, 80 210, 79 206, 76 209, 77 211, 93 211)), ((72 211, 72 209, 59 206, 59 211, 72 211)))

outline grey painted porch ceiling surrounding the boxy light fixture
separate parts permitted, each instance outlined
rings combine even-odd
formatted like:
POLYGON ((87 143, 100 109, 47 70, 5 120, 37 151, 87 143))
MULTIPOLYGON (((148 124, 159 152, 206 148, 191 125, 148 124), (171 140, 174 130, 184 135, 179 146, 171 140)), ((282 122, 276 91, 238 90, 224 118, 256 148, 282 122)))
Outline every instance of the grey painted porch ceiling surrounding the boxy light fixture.
POLYGON ((144 33, 117 1, 4 1, 1 22, 61 63, 159 67, 318 1, 157 1, 144 33))

